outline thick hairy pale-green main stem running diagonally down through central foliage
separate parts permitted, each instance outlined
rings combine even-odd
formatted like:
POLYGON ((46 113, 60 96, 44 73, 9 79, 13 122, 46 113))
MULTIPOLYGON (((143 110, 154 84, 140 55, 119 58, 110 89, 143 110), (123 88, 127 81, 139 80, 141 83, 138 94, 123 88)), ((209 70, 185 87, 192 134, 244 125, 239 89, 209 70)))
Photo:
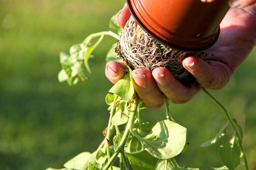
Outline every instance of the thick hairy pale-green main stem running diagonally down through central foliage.
POLYGON ((131 107, 130 117, 129 117, 128 123, 126 125, 125 132, 122 136, 121 142, 119 143, 116 152, 112 155, 111 159, 108 160, 108 163, 105 165, 105 167, 102 170, 108 170, 108 168, 115 161, 118 154, 124 150, 125 143, 127 141, 128 135, 130 134, 130 127, 132 127, 132 125, 134 123, 134 118, 135 118, 135 115, 136 115, 136 112, 137 112, 138 103, 139 103, 139 97, 136 96, 135 99, 134 99, 134 103, 131 107))

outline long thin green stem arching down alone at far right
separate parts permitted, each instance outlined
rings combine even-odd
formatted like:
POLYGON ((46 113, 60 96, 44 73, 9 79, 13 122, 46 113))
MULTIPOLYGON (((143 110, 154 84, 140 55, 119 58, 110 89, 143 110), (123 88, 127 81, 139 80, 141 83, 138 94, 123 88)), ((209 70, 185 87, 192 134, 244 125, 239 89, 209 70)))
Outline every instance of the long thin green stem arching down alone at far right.
POLYGON ((224 108, 224 106, 217 99, 215 99, 215 97, 213 97, 205 88, 201 87, 200 85, 198 85, 198 86, 199 86, 199 88, 201 88, 202 91, 204 91, 205 94, 207 94, 224 111, 224 113, 225 113, 225 115, 227 117, 228 122, 230 123, 231 127, 233 128, 233 130, 235 132, 236 139, 238 140, 240 151, 242 153, 242 159, 244 161, 245 169, 249 170, 247 159, 246 159, 246 156, 245 156, 245 153, 244 153, 244 149, 243 149, 243 146, 242 146, 242 136, 239 136, 238 130, 236 129, 236 126, 235 126, 236 122, 234 122, 231 114, 227 111, 226 108, 224 108))

